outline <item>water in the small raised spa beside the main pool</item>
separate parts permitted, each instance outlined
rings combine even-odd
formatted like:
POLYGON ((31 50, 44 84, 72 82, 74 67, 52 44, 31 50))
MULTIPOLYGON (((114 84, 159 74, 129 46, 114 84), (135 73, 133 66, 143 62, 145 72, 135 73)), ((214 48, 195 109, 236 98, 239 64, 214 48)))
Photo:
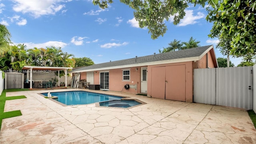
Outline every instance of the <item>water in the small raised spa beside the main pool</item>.
POLYGON ((118 108, 128 108, 131 106, 136 106, 138 104, 142 104, 136 100, 112 100, 108 102, 100 102, 100 106, 110 106, 110 107, 118 107, 118 108))

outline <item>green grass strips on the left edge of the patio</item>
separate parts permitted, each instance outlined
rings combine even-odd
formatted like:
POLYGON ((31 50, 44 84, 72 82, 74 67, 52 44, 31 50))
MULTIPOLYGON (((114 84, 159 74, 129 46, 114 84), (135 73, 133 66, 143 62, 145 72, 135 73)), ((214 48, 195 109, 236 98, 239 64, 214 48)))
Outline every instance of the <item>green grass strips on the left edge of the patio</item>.
MULTIPOLYGON (((14 89, 11 89, 14 90, 14 89)), ((21 91, 22 89, 15 89, 16 91, 21 91)), ((0 95, 0 130, 1 130, 1 126, 2 126, 2 120, 4 118, 12 118, 14 116, 21 116, 21 112, 20 110, 14 110, 14 111, 10 111, 10 112, 4 112, 4 105, 6 100, 16 100, 16 99, 20 99, 20 98, 26 98, 26 96, 8 96, 6 97, 6 91, 7 90, 3 90, 2 94, 0 95)), ((12 91, 15 92, 15 91, 12 91)))

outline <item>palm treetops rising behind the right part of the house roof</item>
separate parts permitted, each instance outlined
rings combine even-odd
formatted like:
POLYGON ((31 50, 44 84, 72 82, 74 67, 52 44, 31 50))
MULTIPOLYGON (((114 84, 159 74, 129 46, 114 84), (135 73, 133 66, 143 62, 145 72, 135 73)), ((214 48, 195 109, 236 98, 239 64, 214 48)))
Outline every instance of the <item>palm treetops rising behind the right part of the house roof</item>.
POLYGON ((163 50, 159 49, 159 53, 184 50, 188 48, 196 48, 200 46, 199 43, 200 41, 196 41, 196 39, 193 39, 193 37, 190 37, 188 42, 180 42, 180 40, 174 39, 172 42, 168 44, 169 46, 167 48, 163 48, 163 50))

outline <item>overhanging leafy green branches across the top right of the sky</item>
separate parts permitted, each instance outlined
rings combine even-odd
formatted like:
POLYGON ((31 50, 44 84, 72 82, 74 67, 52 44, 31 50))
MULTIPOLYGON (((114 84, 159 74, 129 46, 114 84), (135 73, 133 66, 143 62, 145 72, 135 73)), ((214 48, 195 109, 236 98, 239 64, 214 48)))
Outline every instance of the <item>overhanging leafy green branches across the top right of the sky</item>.
MULTIPOLYGON (((93 0, 100 8, 108 8, 113 0, 93 0)), ((140 28, 147 27, 152 39, 167 31, 164 23, 174 16, 176 25, 185 16, 188 3, 205 6, 208 3, 206 20, 213 22, 209 37, 230 37, 231 54, 242 56, 256 52, 256 1, 255 0, 120 0, 134 9, 134 18, 140 28)))

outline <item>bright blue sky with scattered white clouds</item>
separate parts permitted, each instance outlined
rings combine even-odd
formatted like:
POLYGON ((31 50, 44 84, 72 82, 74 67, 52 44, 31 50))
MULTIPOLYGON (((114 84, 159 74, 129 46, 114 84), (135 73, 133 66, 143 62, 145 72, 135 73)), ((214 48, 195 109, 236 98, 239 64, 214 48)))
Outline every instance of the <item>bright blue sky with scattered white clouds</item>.
MULTIPOLYGON (((146 28, 139 28, 129 6, 114 0, 100 9, 92 0, 0 0, 0 23, 7 26, 12 42, 27 48, 60 46, 76 58, 91 58, 96 64, 159 53, 174 39, 200 41, 214 45, 208 38, 212 23, 205 20, 202 6, 190 6, 180 24, 166 21, 168 31, 156 40, 146 28)), ((216 57, 224 57, 215 49, 216 57)), ((235 66, 240 58, 230 59, 235 66)))

